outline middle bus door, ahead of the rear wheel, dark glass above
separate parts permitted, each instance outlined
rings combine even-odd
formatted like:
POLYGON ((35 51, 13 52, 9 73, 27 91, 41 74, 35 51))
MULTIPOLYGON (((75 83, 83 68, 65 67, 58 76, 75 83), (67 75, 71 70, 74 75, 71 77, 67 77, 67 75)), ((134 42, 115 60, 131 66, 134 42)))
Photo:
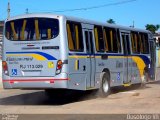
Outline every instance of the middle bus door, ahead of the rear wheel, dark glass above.
POLYGON ((131 67, 131 50, 130 50, 130 33, 121 32, 121 39, 123 44, 124 62, 123 62, 123 83, 131 82, 132 67, 131 67))

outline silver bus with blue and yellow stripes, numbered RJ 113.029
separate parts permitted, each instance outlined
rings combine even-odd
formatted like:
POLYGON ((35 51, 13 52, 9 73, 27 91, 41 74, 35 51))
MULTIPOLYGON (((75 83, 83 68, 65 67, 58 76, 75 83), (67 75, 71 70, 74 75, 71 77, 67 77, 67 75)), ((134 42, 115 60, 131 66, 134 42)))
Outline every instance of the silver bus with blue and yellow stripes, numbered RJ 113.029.
POLYGON ((155 77, 155 42, 147 30, 65 15, 26 14, 5 21, 5 89, 97 90, 155 77))

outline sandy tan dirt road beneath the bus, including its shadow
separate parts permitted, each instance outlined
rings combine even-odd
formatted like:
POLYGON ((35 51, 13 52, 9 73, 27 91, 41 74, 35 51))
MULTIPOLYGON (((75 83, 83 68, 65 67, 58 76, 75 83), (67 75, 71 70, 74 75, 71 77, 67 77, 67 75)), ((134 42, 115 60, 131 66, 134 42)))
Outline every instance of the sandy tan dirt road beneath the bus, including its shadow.
POLYGON ((48 99, 43 91, 0 88, 0 113, 14 114, 127 114, 160 113, 160 81, 143 89, 119 89, 107 98, 92 93, 48 99), (117 92, 118 91, 118 92, 117 92))

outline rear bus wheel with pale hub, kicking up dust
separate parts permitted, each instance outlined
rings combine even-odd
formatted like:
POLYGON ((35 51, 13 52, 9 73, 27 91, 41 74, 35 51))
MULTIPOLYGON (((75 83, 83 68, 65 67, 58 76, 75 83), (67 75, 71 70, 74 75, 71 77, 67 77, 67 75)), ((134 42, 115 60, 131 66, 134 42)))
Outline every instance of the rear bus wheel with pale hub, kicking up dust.
POLYGON ((99 97, 107 97, 111 93, 110 89, 110 75, 108 72, 101 74, 100 88, 98 90, 99 97))

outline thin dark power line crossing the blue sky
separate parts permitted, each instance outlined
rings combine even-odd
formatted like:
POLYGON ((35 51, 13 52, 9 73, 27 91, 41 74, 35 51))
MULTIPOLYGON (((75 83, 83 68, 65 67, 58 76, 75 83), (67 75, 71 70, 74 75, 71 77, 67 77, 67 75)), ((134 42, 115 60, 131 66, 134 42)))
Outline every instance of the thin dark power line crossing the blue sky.
POLYGON ((97 6, 92 6, 92 7, 55 10, 53 12, 73 12, 73 11, 91 10, 91 9, 98 9, 98 8, 103 8, 103 7, 108 7, 108 6, 115 6, 115 5, 120 5, 120 4, 126 4, 126 3, 130 3, 130 2, 135 2, 135 1, 137 1, 137 0, 124 0, 124 1, 120 1, 120 2, 114 2, 114 3, 104 4, 104 5, 97 5, 97 6))

